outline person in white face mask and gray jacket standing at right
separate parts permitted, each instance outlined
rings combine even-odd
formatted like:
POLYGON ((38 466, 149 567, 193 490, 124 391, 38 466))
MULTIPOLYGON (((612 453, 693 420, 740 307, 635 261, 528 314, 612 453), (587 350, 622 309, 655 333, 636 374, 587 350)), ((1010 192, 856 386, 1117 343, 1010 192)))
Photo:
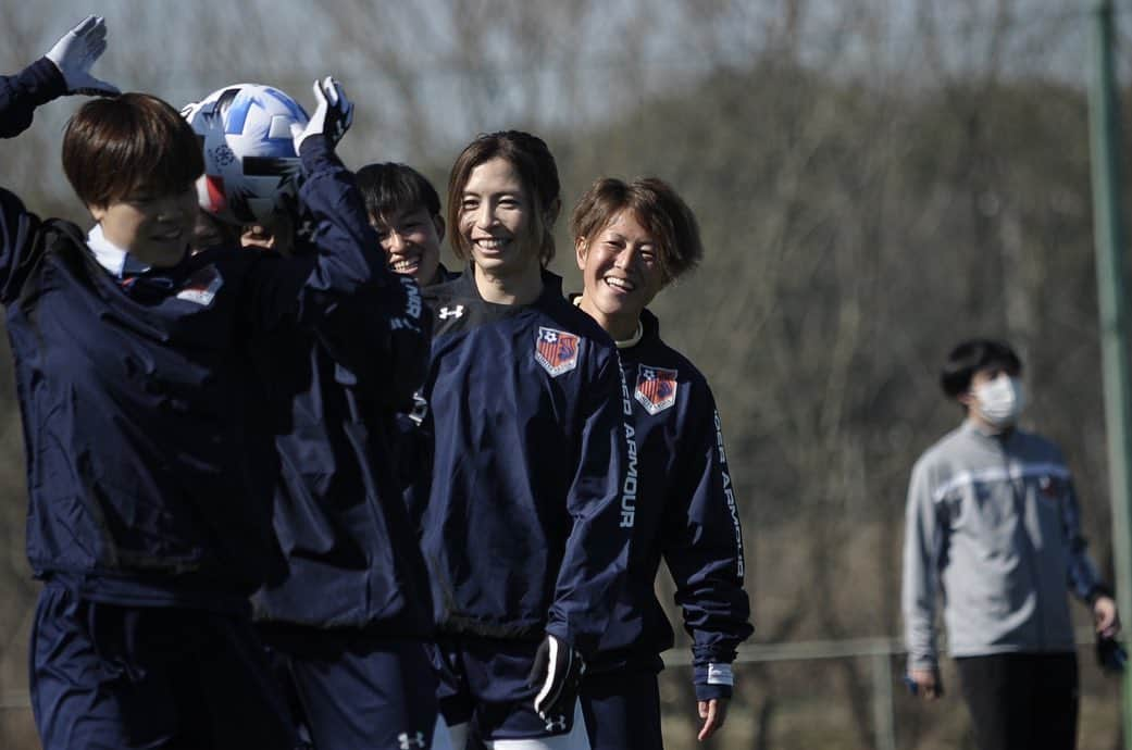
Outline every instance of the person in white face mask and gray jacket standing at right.
POLYGON ((1116 603, 1081 536, 1073 476, 1056 445, 1018 426, 1022 362, 975 338, 947 355, 940 385, 963 422, 912 467, 904 527, 904 640, 910 689, 943 695, 936 602, 980 750, 1071 750, 1077 646, 1069 589, 1097 633, 1116 603))

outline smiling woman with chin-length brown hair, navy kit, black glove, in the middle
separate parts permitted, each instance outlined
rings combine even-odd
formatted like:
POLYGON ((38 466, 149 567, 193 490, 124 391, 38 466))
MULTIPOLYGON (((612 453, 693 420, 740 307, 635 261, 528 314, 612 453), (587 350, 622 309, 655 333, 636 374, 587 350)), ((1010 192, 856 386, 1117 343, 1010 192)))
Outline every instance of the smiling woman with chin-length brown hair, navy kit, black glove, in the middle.
POLYGON ((481 136, 448 184, 464 274, 434 312, 422 430, 432 481, 413 503, 440 606, 453 744, 582 750, 577 682, 625 575, 632 429, 609 337, 544 270, 558 171, 535 136, 481 136))

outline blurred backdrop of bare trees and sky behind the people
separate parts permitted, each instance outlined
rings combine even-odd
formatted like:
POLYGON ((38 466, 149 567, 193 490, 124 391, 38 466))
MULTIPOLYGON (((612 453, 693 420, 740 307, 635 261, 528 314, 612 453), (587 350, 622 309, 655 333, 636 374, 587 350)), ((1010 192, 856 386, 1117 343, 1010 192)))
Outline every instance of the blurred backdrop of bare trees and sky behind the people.
MULTIPOLYGON (((405 161, 443 193, 472 136, 517 127, 550 144, 567 210, 599 175, 675 184, 707 253, 654 310, 721 405, 757 643, 900 633, 908 472, 960 419, 935 372, 969 335, 1020 348, 1027 423, 1064 447, 1110 570, 1086 3, 102 5, 111 46, 100 75, 178 106, 238 80, 309 104, 310 81, 335 74, 358 105, 342 147, 353 166, 405 161)), ((86 12, 0 0, 0 70, 86 12)), ((0 143, 0 183, 41 214, 85 222, 58 166, 75 106, 53 103, 0 143)), ((558 240, 554 268, 576 288, 563 230, 558 240)), ((0 379, 0 697, 19 702, 36 584, 10 368, 0 379)), ((1080 747, 1114 747, 1117 686, 1087 652, 1081 664, 1080 747)), ((730 725, 711 747, 874 747, 864 662, 738 672, 730 725)), ((669 748, 694 744, 688 682, 664 673, 669 748)), ((951 692, 932 707, 897 697, 901 748, 969 743, 951 692)), ((0 747, 37 747, 29 712, 0 710, 0 747)))

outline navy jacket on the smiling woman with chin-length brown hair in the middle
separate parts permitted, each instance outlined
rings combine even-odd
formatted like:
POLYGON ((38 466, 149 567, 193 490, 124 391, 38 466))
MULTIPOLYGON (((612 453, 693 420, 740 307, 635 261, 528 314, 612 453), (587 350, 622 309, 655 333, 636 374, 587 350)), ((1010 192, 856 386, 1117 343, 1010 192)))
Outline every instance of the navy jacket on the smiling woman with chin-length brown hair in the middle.
POLYGON ((636 503, 617 351, 546 271, 529 305, 483 301, 471 269, 424 298, 435 452, 418 512, 439 628, 550 633, 589 655, 624 584, 636 503))

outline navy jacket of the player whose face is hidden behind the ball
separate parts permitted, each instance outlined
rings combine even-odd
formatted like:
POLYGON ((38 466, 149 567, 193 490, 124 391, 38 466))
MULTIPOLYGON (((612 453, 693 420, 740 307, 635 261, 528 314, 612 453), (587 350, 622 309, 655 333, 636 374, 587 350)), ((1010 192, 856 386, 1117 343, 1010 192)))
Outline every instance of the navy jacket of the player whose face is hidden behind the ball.
POLYGON ((386 273, 384 309, 365 325, 388 336, 361 374, 311 333, 289 336, 265 363, 285 420, 273 520, 288 575, 254 597, 257 620, 431 631, 424 560, 394 464, 396 414, 423 380, 429 319, 417 282, 386 273))

